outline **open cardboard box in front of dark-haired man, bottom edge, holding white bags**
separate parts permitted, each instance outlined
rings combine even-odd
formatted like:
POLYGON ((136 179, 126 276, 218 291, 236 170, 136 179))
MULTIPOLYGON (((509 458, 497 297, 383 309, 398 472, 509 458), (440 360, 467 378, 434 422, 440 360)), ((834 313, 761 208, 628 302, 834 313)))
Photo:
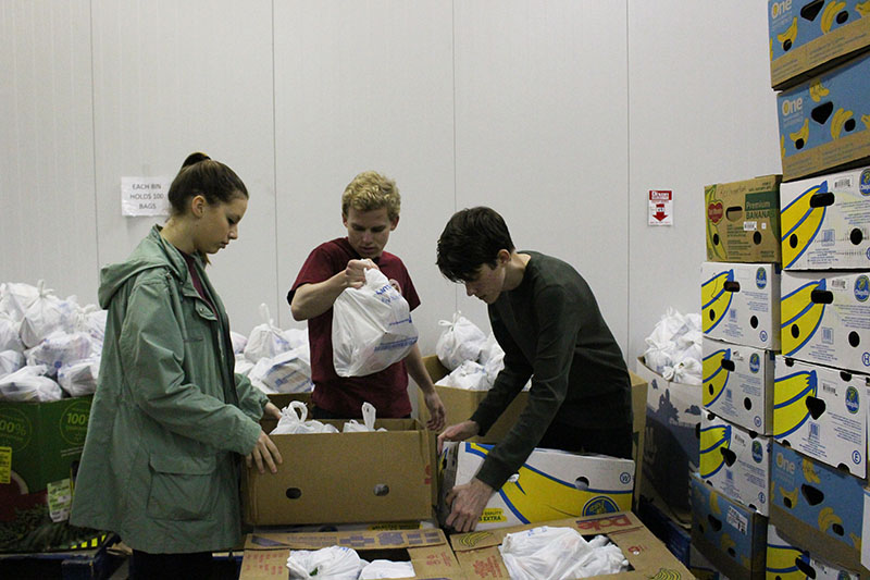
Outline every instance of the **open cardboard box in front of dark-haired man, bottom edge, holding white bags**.
POLYGON ((507 579, 509 578, 508 569, 505 567, 498 546, 507 534, 538 526, 573 528, 586 539, 600 534, 607 535, 622 550, 633 569, 602 578, 624 578, 625 580, 693 578, 685 566, 668 552, 664 544, 641 523, 637 516, 629 511, 453 534, 450 535, 450 544, 469 580, 477 578, 507 579))

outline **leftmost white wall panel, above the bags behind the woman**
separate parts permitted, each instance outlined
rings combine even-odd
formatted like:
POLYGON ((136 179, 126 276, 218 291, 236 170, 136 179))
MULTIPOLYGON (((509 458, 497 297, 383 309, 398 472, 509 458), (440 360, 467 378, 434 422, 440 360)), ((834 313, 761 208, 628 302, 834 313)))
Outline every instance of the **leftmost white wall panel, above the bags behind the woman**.
POLYGON ((0 3, 0 282, 97 300, 87 0, 0 3))

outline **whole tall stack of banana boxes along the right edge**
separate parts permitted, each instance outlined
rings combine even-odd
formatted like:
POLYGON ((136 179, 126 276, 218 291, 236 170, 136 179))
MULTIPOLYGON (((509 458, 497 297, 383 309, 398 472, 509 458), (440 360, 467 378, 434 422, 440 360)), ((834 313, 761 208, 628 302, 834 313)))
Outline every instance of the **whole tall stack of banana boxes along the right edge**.
POLYGON ((870 1, 771 0, 768 23, 776 223, 747 185, 759 180, 742 182, 743 197, 728 197, 741 184, 705 192, 693 544, 730 578, 858 578, 870 535, 870 1), (779 247, 762 248, 768 233, 779 247))

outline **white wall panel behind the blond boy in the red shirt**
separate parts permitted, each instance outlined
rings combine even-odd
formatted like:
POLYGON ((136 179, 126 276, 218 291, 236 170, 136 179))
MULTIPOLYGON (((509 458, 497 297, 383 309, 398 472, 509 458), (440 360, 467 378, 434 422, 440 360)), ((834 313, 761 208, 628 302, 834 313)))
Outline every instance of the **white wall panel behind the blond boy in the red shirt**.
POLYGON ((320 243, 347 235, 341 193, 359 172, 396 180, 401 217, 387 251, 402 258, 422 306, 421 349, 455 308, 435 263, 453 209, 449 2, 277 2, 275 135, 282 326, 284 300, 320 243))

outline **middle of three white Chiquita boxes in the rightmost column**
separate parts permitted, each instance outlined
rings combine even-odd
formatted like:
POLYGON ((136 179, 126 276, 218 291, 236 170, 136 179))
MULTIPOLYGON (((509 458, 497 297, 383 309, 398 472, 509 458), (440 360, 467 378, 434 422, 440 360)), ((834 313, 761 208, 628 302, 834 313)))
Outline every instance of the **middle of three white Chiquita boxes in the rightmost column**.
POLYGON ((782 355, 870 369, 870 273, 783 272, 782 355))

